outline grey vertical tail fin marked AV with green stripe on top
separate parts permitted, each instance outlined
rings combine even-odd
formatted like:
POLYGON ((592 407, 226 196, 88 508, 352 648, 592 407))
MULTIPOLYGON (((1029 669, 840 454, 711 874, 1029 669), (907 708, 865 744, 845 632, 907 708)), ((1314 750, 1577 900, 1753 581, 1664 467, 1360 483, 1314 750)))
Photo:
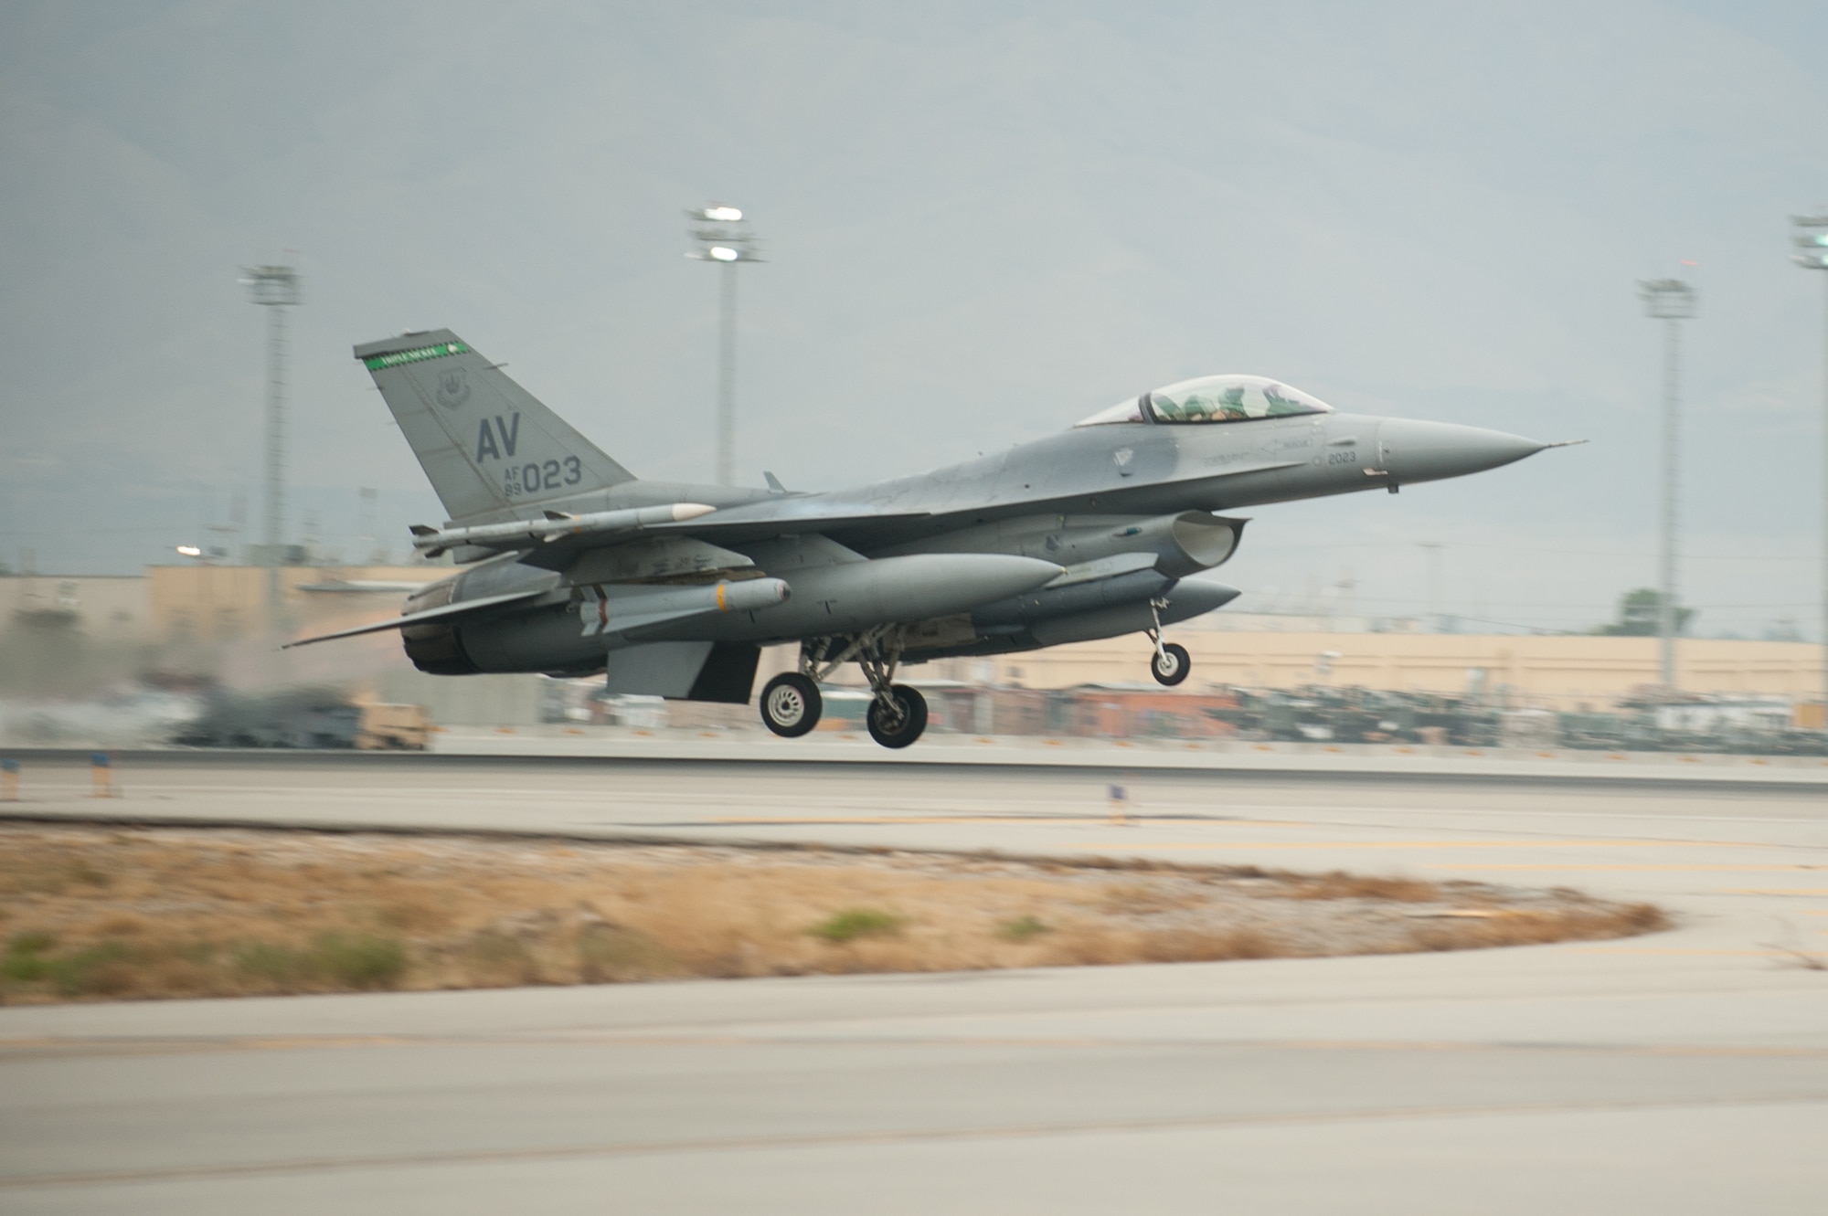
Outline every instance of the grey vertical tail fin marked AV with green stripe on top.
POLYGON ((448 329, 367 341, 355 356, 452 519, 634 480, 448 329))

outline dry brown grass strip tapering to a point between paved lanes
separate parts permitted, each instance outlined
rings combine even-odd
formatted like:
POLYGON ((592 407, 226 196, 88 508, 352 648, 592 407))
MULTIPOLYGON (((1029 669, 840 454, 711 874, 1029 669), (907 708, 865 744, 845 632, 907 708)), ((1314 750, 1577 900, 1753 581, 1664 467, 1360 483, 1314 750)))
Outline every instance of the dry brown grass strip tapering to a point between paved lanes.
POLYGON ((0 827, 0 1001, 1466 949, 1649 906, 1093 860, 0 827))

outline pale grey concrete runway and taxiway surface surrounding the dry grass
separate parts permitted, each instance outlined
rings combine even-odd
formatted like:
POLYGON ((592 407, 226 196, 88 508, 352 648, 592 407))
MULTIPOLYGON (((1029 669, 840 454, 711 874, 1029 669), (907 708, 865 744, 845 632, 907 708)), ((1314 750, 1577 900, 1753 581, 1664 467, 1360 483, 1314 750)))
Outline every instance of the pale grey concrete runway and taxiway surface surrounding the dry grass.
POLYGON ((1815 1212, 1828 798, 1782 783, 166 758, 29 814, 832 842, 1651 898, 1386 959, 0 1010, 9 1212, 1815 1212), (1132 822, 1110 822, 1110 783, 1132 822))

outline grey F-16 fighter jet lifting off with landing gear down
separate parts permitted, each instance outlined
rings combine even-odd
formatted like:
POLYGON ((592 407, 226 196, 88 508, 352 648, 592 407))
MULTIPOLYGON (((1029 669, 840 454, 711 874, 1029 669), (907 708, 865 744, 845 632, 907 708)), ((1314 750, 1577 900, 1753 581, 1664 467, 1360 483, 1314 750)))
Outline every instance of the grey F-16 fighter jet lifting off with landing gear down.
POLYGON ((1150 672, 1190 670, 1163 626, 1238 597, 1205 579, 1241 508, 1397 493, 1552 444, 1366 418, 1263 376, 1132 396, 1009 451, 854 489, 640 480, 448 329, 355 356, 450 519, 413 528, 461 566, 402 615, 292 645, 400 630, 422 672, 603 674, 611 692, 748 703, 760 648, 799 645, 762 688, 770 730, 819 721, 819 681, 857 663, 883 747, 927 727, 912 663, 1144 634, 1150 672))

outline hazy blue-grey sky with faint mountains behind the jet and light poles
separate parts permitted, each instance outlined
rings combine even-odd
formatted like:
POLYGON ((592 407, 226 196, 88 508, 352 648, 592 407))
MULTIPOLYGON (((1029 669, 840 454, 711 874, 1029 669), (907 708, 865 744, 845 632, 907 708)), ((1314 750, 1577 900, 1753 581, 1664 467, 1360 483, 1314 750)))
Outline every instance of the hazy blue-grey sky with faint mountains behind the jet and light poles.
POLYGON ((1201 372, 1590 438, 1398 497, 1263 508, 1239 608, 1342 579, 1539 626, 1654 579, 1682 270, 1684 588, 1815 628, 1828 5, 26 4, 0 7, 0 561, 132 571, 258 529, 285 254, 291 533, 437 522, 356 341, 448 325, 645 477, 709 478, 740 204, 742 480, 912 473, 1201 372), (1682 259, 1696 263, 1680 267, 1682 259))

